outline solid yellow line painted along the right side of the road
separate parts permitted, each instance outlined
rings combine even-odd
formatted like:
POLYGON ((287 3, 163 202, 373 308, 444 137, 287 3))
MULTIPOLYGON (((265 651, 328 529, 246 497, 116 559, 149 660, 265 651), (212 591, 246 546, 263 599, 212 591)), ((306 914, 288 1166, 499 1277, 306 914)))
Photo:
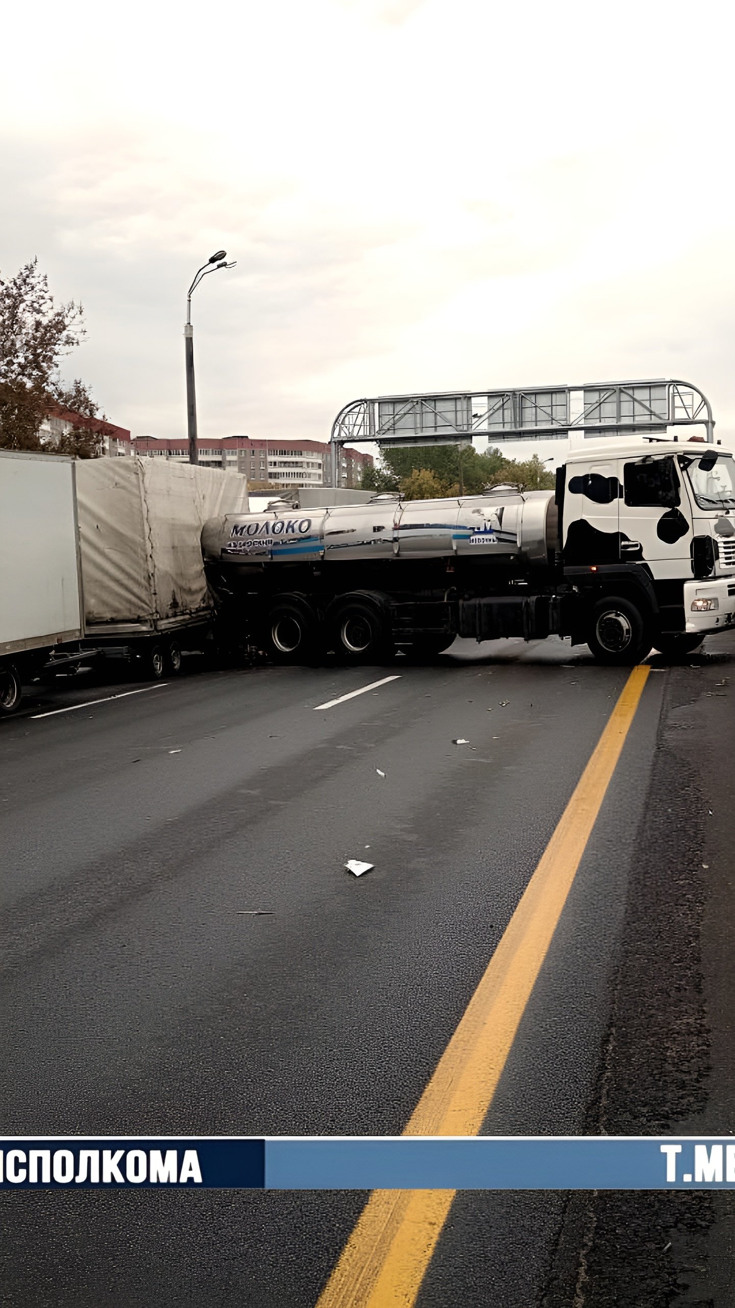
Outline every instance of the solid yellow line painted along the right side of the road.
MULTIPOLYGON (((646 679, 630 672, 598 746, 404 1135, 476 1135, 547 956, 646 679)), ((411 1308, 455 1190, 374 1190, 316 1308, 411 1308)))

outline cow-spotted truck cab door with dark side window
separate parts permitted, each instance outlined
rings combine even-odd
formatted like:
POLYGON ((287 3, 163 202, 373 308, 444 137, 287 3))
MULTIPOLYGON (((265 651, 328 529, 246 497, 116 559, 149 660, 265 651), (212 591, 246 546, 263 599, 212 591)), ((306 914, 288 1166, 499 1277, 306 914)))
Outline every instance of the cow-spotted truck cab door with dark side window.
POLYGON ((645 455, 623 462, 623 501, 620 504, 620 539, 623 559, 668 561, 667 572, 657 576, 679 577, 681 560, 689 562, 692 522, 687 496, 671 454, 645 455))

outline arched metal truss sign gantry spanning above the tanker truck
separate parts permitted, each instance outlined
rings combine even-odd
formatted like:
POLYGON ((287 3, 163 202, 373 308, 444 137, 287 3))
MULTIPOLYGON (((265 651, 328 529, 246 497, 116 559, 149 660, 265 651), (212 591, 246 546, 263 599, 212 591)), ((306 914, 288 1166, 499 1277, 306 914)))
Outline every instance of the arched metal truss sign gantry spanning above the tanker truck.
POLYGON ((668 426, 702 425, 709 443, 714 419, 708 398, 680 381, 594 382, 504 391, 445 391, 352 400, 332 424, 331 449, 339 485, 339 447, 356 441, 390 445, 455 445, 500 441, 666 436, 668 426))

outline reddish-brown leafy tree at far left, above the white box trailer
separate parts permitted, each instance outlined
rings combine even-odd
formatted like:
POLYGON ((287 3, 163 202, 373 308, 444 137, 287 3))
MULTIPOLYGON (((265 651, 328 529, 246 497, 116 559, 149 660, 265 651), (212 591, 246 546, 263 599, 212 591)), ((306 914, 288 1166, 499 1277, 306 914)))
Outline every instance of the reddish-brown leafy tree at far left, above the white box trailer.
POLYGON ((81 458, 102 453, 99 429, 92 426, 80 424, 59 446, 44 445, 39 437, 54 404, 98 417, 99 407, 84 382, 77 378, 65 387, 59 377, 61 358, 85 335, 81 305, 55 303, 37 259, 14 277, 0 277, 0 446, 81 458))

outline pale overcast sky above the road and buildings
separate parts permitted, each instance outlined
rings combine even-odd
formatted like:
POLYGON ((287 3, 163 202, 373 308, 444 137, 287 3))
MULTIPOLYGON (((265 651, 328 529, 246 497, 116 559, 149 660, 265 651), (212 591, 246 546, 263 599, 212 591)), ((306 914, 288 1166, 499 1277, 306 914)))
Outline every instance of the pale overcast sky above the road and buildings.
POLYGON ((200 436, 681 377, 732 443, 732 27, 710 0, 16 5, 0 269, 82 301, 67 374, 135 436, 186 430, 186 288, 224 247, 200 436))

